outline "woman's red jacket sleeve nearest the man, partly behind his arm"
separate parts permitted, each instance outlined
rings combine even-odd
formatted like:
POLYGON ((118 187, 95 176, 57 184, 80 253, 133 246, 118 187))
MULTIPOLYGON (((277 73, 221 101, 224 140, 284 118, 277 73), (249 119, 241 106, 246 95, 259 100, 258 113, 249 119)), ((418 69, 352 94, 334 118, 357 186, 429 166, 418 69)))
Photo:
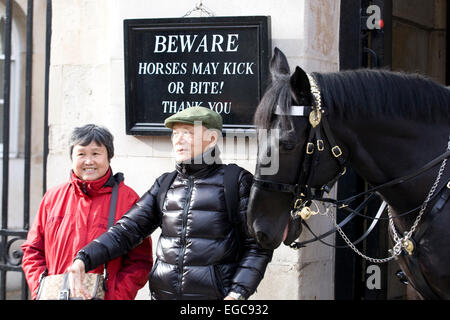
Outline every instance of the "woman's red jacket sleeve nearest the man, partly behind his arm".
MULTIPOLYGON (((139 200, 139 196, 130 189, 127 200, 128 206, 131 207, 139 200)), ((123 257, 114 282, 114 299, 133 300, 138 290, 147 282, 152 267, 152 238, 147 237, 123 257)))

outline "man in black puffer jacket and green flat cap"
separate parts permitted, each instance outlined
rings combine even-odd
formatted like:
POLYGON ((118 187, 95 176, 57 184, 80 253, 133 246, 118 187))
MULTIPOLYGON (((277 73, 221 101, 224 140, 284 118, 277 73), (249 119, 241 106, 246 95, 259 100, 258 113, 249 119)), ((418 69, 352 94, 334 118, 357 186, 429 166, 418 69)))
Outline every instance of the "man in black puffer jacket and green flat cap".
POLYGON ((192 107, 167 118, 165 125, 173 130, 177 174, 163 203, 157 198, 167 174, 116 226, 80 250, 69 268, 75 295, 89 298, 81 282, 84 272, 126 254, 157 227, 162 232, 149 277, 153 299, 247 299, 262 280, 273 251, 262 249, 248 233, 253 177, 244 169, 236 185, 237 223, 227 213, 225 165, 216 148, 222 118, 208 108, 192 107))

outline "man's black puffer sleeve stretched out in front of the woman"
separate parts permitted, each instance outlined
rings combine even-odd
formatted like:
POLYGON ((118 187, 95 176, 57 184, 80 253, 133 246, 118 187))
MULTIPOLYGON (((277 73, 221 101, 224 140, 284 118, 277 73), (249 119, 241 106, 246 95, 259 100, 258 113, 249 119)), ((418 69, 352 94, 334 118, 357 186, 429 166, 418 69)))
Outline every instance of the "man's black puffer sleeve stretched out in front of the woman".
POLYGON ((78 252, 75 259, 84 262, 86 272, 128 253, 161 225, 161 213, 156 206, 156 197, 162 177, 155 181, 115 226, 78 252))

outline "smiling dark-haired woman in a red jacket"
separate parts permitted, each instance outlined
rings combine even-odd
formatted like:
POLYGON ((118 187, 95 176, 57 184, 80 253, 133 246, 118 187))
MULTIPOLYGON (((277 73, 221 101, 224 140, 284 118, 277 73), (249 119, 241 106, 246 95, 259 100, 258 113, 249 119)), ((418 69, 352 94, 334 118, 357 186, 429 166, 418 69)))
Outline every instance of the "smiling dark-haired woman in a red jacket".
MULTIPOLYGON (((22 245, 22 268, 33 299, 41 274, 65 273, 77 252, 106 231, 114 179, 120 182, 115 221, 139 200, 123 183, 121 173, 113 176, 113 156, 113 136, 107 129, 93 124, 75 128, 70 139, 70 179, 45 193, 22 245)), ((134 299, 152 265, 150 237, 126 256, 110 261, 105 300, 134 299)), ((103 267, 92 272, 103 273, 103 267)))

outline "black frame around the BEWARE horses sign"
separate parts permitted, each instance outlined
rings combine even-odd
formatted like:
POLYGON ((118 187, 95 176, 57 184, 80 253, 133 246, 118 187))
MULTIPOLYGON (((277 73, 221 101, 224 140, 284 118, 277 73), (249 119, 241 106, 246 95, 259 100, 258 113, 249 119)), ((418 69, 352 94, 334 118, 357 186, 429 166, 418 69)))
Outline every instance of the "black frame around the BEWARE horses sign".
MULTIPOLYGON (((160 19, 125 19, 124 27, 124 65, 125 65, 125 122, 126 134, 136 136, 170 135, 171 130, 164 123, 142 123, 135 118, 136 104, 133 101, 133 76, 131 75, 131 43, 132 33, 136 28, 173 28, 173 27, 199 27, 199 26, 244 26, 256 27, 259 40, 259 97, 260 100, 268 84, 269 61, 271 54, 270 16, 232 16, 232 17, 206 17, 206 18, 160 18, 160 19)), ((255 110, 256 110, 255 106, 255 110)), ((254 110, 254 111, 255 111, 254 110)), ((223 134, 229 132, 253 132, 252 123, 243 125, 228 124, 223 127, 223 134)))

